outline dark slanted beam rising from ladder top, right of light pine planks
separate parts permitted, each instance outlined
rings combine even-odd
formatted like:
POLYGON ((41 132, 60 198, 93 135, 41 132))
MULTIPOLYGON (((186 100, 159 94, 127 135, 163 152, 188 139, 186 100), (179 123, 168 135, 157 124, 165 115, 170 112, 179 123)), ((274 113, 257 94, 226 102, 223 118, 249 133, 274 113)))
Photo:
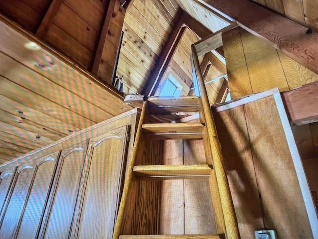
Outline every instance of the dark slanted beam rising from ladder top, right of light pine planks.
POLYGON ((179 13, 176 25, 174 26, 172 32, 170 33, 170 36, 160 53, 159 59, 156 62, 156 66, 152 70, 152 73, 150 77, 148 78, 147 84, 142 93, 143 95, 152 96, 155 94, 155 91, 157 90, 159 83, 166 69, 169 66, 169 63, 173 57, 175 49, 177 48, 182 38, 182 35, 185 31, 186 26, 184 25, 184 20, 185 20, 184 12, 179 13))

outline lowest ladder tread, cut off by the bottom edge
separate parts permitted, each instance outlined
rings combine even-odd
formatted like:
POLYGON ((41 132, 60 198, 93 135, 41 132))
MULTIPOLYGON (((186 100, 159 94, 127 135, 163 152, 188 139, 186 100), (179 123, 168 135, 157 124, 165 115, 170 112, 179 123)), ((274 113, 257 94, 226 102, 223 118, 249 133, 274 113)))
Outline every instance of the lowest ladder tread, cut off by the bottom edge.
POLYGON ((121 235, 119 239, 221 239, 218 234, 187 234, 187 235, 121 235))

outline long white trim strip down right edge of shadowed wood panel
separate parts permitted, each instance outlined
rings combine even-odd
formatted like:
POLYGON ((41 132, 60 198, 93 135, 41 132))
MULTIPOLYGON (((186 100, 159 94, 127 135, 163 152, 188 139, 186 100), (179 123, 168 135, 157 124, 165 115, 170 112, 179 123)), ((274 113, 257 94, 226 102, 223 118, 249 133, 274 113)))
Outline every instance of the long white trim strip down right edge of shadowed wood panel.
POLYGON ((313 238, 318 239, 318 215, 317 215, 317 212, 315 210, 314 201, 312 198, 311 191, 309 189, 304 166, 303 166, 302 160, 299 156, 297 145, 295 143, 294 135, 293 135, 292 129, 290 127, 290 123, 289 123, 289 120, 288 120, 288 117, 286 114, 286 110, 285 110, 285 107, 284 107, 284 104, 282 101, 282 97, 281 97, 279 92, 275 93, 273 96, 274 96, 274 100, 275 100, 275 103, 277 106, 277 111, 278 111, 283 129, 285 132, 285 136, 286 136, 287 144, 288 144, 291 156, 292 156, 292 160, 294 163, 294 168, 295 168, 296 175, 298 178, 300 190, 301 190, 302 195, 303 195, 304 204, 306 207, 309 223, 310 223, 311 228, 312 228, 313 238))

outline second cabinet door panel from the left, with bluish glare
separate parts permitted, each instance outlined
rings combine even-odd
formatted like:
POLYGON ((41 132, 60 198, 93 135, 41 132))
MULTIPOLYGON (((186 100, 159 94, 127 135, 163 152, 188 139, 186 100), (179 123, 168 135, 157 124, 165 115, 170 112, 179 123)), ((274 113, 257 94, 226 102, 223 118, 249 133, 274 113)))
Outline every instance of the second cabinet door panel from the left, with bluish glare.
POLYGON ((9 201, 1 220, 1 239, 11 239, 14 236, 31 186, 33 173, 34 167, 30 165, 19 166, 17 169, 15 182, 10 190, 9 201))

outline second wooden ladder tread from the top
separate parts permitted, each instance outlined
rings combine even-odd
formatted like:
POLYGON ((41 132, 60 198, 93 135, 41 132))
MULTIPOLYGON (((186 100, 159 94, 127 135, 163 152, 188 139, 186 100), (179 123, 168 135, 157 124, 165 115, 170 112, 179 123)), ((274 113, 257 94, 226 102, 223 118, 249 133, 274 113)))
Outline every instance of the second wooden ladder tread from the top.
POLYGON ((204 133, 201 123, 147 123, 142 129, 149 139, 195 139, 204 133))

